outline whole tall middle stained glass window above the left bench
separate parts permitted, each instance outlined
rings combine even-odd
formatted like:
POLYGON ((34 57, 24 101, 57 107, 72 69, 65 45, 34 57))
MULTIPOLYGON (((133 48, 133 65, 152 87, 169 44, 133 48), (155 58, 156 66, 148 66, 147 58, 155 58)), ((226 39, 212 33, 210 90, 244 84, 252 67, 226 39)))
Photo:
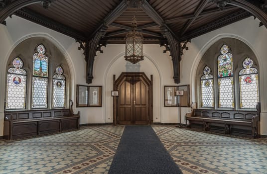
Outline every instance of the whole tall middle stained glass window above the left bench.
POLYGON ((46 49, 40 44, 38 53, 33 54, 32 108, 47 108, 48 57, 46 49))

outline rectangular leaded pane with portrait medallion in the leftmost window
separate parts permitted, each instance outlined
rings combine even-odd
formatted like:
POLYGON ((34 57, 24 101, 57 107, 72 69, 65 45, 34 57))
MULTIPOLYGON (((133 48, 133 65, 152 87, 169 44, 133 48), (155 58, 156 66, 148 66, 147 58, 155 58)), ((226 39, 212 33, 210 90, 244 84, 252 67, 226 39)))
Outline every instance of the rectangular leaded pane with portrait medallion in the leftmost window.
POLYGON ((25 109, 27 77, 7 74, 6 109, 25 109))

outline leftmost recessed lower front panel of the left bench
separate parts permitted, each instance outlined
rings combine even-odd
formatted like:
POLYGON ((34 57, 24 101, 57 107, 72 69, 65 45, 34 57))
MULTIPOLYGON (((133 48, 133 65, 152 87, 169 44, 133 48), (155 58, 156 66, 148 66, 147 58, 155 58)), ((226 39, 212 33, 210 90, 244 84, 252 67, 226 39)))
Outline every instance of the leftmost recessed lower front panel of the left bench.
POLYGON ((14 123, 12 127, 13 138, 37 135, 37 121, 27 123, 14 123))

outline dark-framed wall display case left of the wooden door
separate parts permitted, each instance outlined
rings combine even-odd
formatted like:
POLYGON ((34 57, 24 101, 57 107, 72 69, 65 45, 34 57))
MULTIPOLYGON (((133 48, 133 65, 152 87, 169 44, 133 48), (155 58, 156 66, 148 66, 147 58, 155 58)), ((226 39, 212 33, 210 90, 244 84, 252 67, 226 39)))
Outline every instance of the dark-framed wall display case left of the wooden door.
POLYGON ((77 85, 76 107, 102 107, 102 86, 77 85))

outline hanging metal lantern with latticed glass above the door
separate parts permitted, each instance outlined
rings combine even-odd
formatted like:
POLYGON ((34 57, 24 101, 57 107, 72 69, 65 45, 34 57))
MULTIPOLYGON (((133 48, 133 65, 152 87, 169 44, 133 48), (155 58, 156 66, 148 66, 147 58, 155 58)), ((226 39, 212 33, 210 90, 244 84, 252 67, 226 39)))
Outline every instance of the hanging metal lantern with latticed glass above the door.
POLYGON ((137 32, 137 22, 135 16, 132 19, 132 31, 126 35, 126 55, 125 60, 136 64, 143 60, 143 36, 137 32))

